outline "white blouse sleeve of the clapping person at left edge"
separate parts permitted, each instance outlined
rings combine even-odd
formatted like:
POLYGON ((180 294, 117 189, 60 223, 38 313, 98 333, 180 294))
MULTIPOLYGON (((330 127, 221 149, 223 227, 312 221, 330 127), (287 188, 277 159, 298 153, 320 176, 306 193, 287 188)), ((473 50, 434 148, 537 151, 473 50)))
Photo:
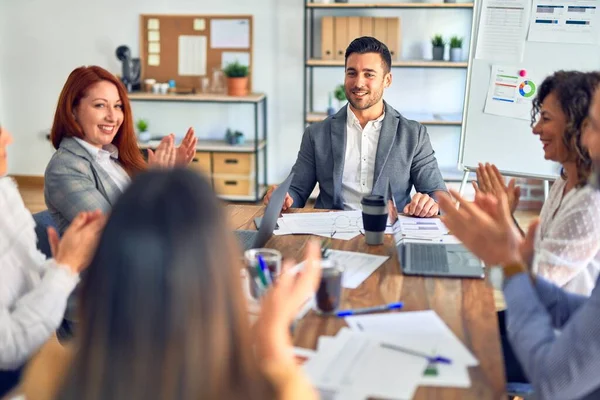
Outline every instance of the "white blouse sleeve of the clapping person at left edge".
POLYGON ((15 369, 52 335, 79 276, 36 248, 17 185, 0 177, 0 370, 15 369))

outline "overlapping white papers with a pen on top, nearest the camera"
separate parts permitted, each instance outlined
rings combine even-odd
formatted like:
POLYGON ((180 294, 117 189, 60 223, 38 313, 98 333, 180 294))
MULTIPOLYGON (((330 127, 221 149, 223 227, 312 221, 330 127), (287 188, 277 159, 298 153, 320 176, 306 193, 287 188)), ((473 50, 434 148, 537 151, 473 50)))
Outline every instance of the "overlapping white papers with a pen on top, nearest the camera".
POLYGON ((327 398, 410 399, 418 386, 471 385, 467 368, 478 362, 435 312, 353 316, 346 321, 350 329, 320 337, 317 351, 303 366, 327 398), (429 364, 425 357, 389 345, 446 357, 452 363, 429 364))

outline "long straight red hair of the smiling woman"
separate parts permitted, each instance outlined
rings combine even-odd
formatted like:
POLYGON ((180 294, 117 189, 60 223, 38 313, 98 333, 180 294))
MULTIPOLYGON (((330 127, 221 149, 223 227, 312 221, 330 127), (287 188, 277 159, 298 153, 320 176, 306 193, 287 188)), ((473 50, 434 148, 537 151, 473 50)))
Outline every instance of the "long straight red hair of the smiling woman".
POLYGON ((137 146, 127 90, 119 79, 104 68, 92 65, 79 67, 71 72, 58 98, 50 140, 54 148, 58 149, 65 137, 84 139, 83 129, 75 120, 74 110, 81 99, 87 95, 89 88, 101 81, 114 84, 119 92, 123 106, 123 123, 113 139, 113 144, 119 149, 119 161, 125 170, 133 175, 145 169, 146 163, 137 146))

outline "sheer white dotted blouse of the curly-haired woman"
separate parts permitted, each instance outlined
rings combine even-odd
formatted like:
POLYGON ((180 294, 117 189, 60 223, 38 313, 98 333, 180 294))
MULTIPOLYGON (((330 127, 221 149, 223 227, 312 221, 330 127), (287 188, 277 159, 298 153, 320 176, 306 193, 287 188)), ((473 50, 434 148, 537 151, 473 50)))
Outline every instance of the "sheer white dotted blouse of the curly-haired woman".
POLYGON ((600 192, 588 186, 563 196, 557 179, 542 207, 533 272, 565 290, 589 296, 600 271, 600 192))

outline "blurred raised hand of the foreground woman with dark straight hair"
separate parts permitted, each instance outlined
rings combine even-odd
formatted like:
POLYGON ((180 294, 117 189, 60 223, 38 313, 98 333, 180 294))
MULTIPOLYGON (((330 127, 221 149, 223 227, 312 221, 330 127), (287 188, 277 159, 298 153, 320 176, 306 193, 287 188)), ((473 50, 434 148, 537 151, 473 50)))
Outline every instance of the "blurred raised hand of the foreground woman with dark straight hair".
POLYGON ((300 307, 314 293, 321 279, 318 241, 306 245, 304 269, 289 272, 293 261, 286 261, 277 282, 261 300, 261 313, 255 325, 257 355, 261 360, 295 365, 290 325, 300 307))

